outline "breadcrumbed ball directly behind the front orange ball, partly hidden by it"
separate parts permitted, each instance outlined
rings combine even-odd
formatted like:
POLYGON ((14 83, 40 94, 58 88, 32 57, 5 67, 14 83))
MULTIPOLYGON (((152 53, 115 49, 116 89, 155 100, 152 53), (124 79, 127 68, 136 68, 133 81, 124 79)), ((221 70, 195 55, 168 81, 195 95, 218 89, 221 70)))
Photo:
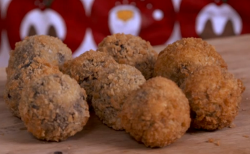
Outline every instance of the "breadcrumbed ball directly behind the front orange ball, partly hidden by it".
POLYGON ((101 121, 115 130, 123 130, 118 117, 125 98, 145 82, 135 67, 117 64, 100 71, 94 84, 92 106, 101 121))

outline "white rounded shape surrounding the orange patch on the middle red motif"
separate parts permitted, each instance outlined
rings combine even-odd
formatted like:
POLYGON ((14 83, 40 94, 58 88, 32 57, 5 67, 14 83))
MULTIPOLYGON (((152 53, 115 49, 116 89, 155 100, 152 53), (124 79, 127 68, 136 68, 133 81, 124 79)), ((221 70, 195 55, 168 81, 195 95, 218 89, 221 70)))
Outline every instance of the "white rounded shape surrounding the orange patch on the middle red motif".
POLYGON ((138 35, 141 27, 140 10, 133 5, 118 5, 113 7, 109 12, 109 29, 112 34, 124 33, 138 35), (133 16, 127 21, 118 18, 118 11, 132 11, 133 16))

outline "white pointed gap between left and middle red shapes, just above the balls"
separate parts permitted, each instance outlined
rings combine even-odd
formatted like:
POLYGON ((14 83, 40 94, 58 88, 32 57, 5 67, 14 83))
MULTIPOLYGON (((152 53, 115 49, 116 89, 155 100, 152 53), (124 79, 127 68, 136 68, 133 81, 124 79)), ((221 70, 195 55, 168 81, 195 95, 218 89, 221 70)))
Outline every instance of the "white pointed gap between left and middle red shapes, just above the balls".
POLYGON ((84 37, 84 40, 82 41, 82 44, 80 45, 80 47, 73 53, 73 57, 78 57, 80 56, 82 53, 89 51, 90 49, 92 50, 96 50, 97 46, 95 44, 95 41, 93 39, 92 36, 92 31, 90 28, 88 28, 86 30, 86 34, 84 37))

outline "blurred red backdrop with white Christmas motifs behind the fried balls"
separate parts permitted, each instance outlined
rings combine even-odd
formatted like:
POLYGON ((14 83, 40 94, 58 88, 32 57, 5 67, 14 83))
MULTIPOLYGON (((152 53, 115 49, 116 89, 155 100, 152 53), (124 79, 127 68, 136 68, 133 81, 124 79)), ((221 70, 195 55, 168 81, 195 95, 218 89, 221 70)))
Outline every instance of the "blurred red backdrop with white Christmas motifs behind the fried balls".
POLYGON ((250 33, 249 0, 0 0, 0 16, 0 67, 31 35, 58 37, 77 57, 113 33, 154 46, 250 33))

